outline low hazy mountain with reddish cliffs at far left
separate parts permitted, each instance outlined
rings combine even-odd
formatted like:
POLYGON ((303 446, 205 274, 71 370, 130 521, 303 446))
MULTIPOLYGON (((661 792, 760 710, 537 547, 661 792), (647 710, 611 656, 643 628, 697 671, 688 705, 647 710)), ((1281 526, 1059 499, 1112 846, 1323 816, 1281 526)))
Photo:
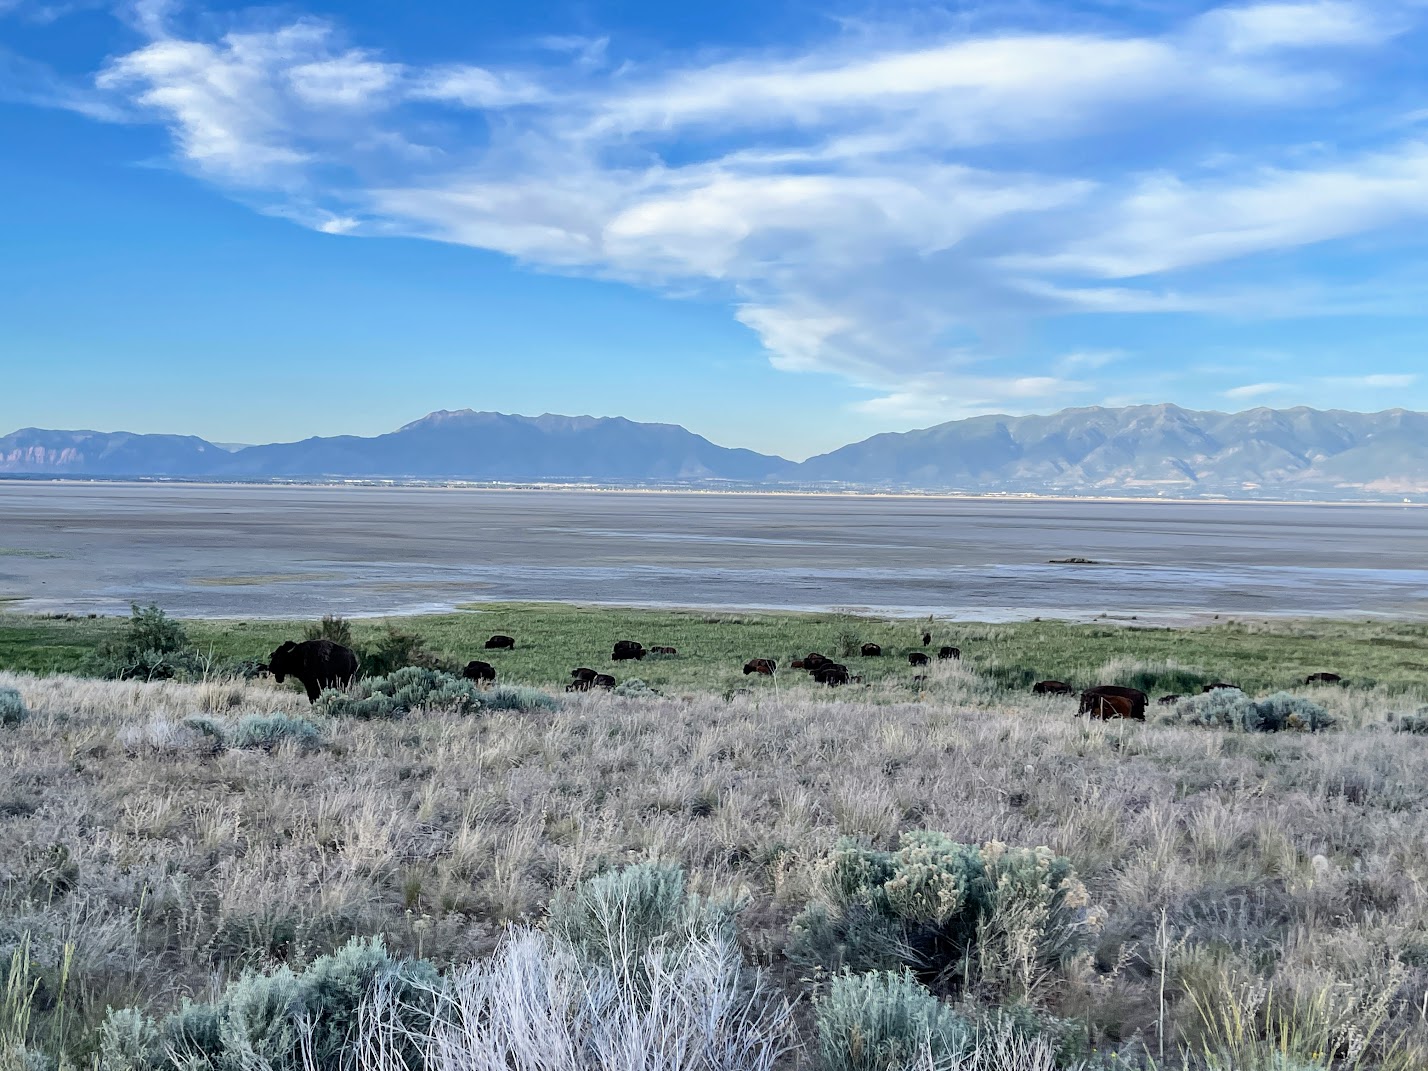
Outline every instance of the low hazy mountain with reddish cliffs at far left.
POLYGON ((0 473, 194 476, 230 454, 194 436, 21 428, 0 438, 0 473))

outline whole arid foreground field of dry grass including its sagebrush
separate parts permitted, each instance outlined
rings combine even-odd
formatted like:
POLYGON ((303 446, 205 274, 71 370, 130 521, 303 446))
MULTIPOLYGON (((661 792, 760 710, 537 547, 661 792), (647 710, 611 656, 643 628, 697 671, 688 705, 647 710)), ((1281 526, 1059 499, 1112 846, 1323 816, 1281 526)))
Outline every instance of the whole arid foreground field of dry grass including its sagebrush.
POLYGON ((894 670, 374 720, 0 673, 0 1067, 1428 1067, 1415 670, 1292 688, 1312 733, 894 670))

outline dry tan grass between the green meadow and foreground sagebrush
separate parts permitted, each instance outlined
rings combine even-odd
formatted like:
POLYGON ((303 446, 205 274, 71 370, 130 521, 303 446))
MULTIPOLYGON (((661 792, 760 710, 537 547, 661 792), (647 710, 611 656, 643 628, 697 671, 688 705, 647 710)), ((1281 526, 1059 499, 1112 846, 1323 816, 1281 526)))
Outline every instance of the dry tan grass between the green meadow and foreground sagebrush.
POLYGON ((31 1035, 77 1062, 107 1005, 166 1010, 353 934, 466 965, 635 860, 745 895, 747 954, 800 998, 817 980, 784 960, 787 927, 837 837, 934 828, 1071 857, 1104 937, 1047 1000, 1105 1047, 1254 1068, 1292 1034, 1348 1067, 1428 1065, 1428 740, 1382 724, 1402 695, 1321 690, 1341 731, 1250 737, 1088 724, 944 665, 920 698, 563 695, 214 754, 186 717, 307 704, 241 683, 6 685, 31 717, 0 730, 0 961, 33 961, 31 1035))

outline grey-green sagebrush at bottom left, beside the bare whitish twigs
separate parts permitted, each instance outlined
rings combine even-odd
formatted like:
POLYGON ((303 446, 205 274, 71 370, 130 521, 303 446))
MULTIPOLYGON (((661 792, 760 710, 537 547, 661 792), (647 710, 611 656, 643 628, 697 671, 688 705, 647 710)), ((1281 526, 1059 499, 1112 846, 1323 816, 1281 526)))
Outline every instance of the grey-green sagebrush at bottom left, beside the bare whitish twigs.
POLYGON ((353 938, 300 972, 246 971, 216 1001, 186 998, 160 1021, 134 1010, 110 1011, 100 1031, 100 1064, 104 1071, 337 1068, 376 987, 404 997, 398 1004, 420 1030, 430 1021, 436 984, 436 968, 424 960, 397 961, 381 938, 353 938))

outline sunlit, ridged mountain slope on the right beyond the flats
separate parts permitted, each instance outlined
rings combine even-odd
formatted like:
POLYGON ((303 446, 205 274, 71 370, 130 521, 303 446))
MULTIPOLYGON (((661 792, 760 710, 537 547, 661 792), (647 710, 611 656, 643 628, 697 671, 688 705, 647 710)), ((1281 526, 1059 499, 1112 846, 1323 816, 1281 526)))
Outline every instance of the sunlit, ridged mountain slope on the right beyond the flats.
POLYGON ((810 458, 800 477, 1102 494, 1428 491, 1428 416, 1132 406, 974 417, 874 436, 810 458))

